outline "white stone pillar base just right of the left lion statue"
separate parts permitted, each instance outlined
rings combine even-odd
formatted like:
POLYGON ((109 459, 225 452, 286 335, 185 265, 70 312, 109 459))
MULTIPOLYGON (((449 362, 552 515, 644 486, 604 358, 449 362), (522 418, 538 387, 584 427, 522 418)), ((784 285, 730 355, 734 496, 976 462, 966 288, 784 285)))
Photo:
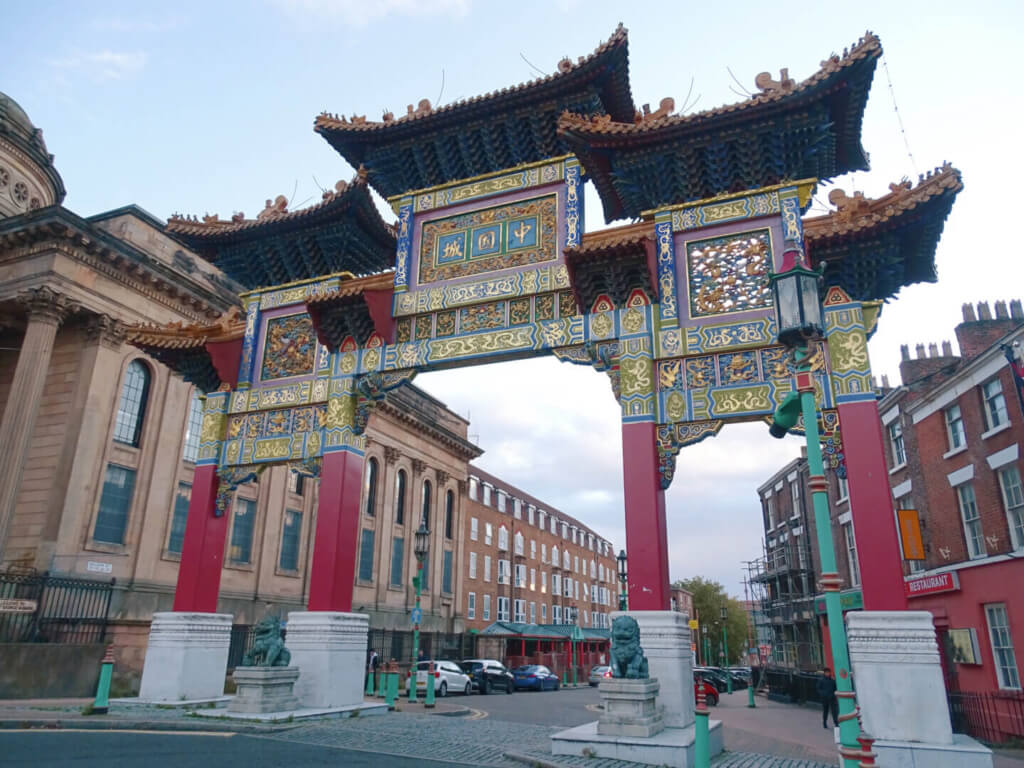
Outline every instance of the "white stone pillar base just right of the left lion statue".
POLYGON ((285 646, 299 668, 295 695, 312 709, 362 703, 370 616, 331 610, 288 614, 285 646))

